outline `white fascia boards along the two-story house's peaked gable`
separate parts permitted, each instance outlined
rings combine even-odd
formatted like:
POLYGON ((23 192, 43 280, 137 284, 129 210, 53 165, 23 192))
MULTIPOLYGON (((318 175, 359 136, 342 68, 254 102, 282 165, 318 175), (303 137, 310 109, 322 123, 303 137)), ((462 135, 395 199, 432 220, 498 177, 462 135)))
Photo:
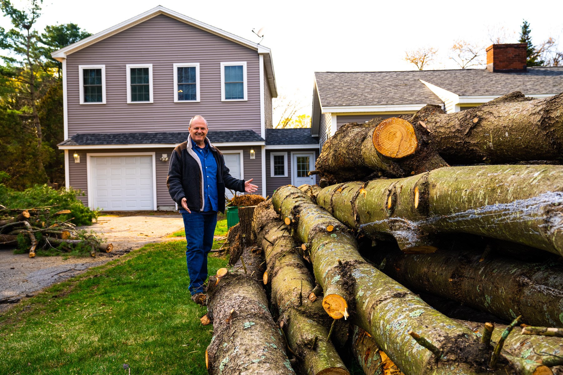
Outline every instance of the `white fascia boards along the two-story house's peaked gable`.
MULTIPOLYGON (((157 7, 152 8, 151 10, 148 10, 144 13, 141 13, 140 15, 132 17, 132 18, 126 20, 126 21, 123 21, 123 22, 115 25, 115 26, 111 26, 111 28, 100 31, 99 33, 91 35, 88 38, 84 38, 82 40, 79 40, 76 43, 70 44, 69 46, 66 46, 64 48, 59 49, 58 51, 52 52, 51 56, 55 60, 61 61, 61 60, 59 60, 59 58, 65 58, 66 55, 70 55, 70 53, 74 53, 76 51, 79 51, 82 48, 88 47, 91 44, 97 43, 100 40, 103 40, 105 38, 109 38, 112 35, 120 33, 123 30, 129 29, 129 28, 131 28, 135 25, 140 24, 141 22, 144 22, 146 20, 149 20, 149 19, 151 19, 155 16, 158 16, 158 15, 161 15, 161 14, 166 15, 168 17, 171 17, 173 19, 176 19, 178 21, 185 22, 186 24, 194 26, 198 29, 208 31, 209 33, 218 35, 222 38, 229 39, 232 42, 242 44, 245 47, 254 49, 254 51, 258 51, 258 48, 259 48, 258 46, 260 46, 258 43, 254 43, 251 40, 239 37, 238 35, 235 35, 235 34, 228 33, 225 30, 218 29, 215 26, 205 24, 204 22, 201 22, 201 21, 198 21, 198 20, 194 20, 193 18, 182 15, 181 13, 175 12, 173 10, 170 10, 168 8, 165 8, 165 7, 159 5, 157 7)), ((269 51, 269 48, 267 48, 267 47, 263 47, 263 46, 260 46, 260 47, 261 47, 262 51, 269 51)))

